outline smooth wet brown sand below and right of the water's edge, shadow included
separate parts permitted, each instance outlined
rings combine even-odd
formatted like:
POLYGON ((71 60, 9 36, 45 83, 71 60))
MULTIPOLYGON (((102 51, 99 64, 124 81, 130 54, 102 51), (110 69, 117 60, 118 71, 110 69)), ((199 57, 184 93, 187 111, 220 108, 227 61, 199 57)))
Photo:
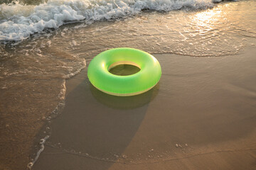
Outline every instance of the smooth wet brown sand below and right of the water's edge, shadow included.
POLYGON ((159 84, 132 97, 98 91, 85 68, 33 169, 256 169, 255 54, 154 54, 159 84))

